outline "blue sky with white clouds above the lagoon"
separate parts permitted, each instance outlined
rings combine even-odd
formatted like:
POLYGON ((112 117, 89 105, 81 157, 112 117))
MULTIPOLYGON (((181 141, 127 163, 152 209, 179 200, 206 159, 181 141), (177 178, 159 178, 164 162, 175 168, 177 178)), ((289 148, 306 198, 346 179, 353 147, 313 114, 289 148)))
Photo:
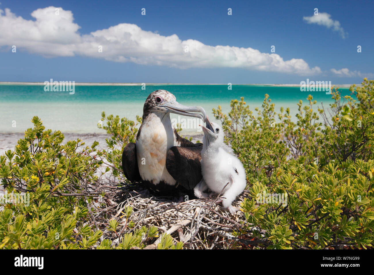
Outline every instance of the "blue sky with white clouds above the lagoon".
POLYGON ((349 84, 374 78, 373 1, 0 2, 0 81, 300 83, 309 78, 349 84), (62 23, 45 21, 64 24, 62 34, 51 31, 50 38, 43 24, 28 31, 30 20, 36 20, 31 13, 43 9, 43 21, 54 11, 45 9, 50 6, 62 8, 58 19, 67 16, 62 23), (309 22, 315 8, 325 23, 309 22), (123 29, 108 30, 122 23, 127 23, 123 29), (19 28, 24 32, 16 33, 19 28), (98 30, 106 31, 90 35, 98 30), (122 37, 122 30, 131 33, 131 40, 122 37), (148 39, 151 45, 144 44, 148 39), (135 46, 128 47, 129 42, 135 46), (102 43, 101 54, 85 48, 102 43), (190 53, 181 55, 178 47, 185 45, 190 53))

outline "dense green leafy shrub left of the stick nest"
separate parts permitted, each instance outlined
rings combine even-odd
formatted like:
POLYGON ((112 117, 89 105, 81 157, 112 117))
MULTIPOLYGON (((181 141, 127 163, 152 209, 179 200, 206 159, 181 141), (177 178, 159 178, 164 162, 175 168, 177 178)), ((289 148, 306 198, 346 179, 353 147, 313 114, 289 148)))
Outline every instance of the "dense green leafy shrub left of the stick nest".
MULTIPOLYGON (((0 156, 0 178, 7 193, 26 193, 29 203, 10 203, 0 212, 0 248, 87 248, 100 230, 85 225, 88 203, 73 196, 82 186, 95 184, 101 165, 91 147, 77 149, 81 140, 62 145, 64 135, 46 130, 38 117, 31 120, 15 151, 0 156)), ((81 191, 79 191, 81 192, 81 191)), ((26 200, 25 200, 26 201, 26 200)))

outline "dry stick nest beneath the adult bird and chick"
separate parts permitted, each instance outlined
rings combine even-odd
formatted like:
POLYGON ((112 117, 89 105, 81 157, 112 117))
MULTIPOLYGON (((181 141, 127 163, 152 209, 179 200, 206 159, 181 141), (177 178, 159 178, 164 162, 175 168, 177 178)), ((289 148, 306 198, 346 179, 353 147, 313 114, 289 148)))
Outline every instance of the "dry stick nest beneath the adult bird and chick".
POLYGON ((104 191, 105 196, 93 199, 89 212, 96 228, 104 230, 102 238, 111 239, 114 244, 122 241, 124 234, 137 228, 156 226, 159 238, 147 241, 146 249, 155 249, 162 233, 183 242, 183 247, 187 249, 234 248, 237 245, 235 241, 240 239, 232 233, 245 224, 240 203, 246 197, 246 190, 233 202, 233 206, 237 207, 236 213, 230 214, 217 202, 219 196, 190 200, 186 197, 184 201, 184 197, 178 199, 150 194, 141 183, 107 183, 97 189, 104 191), (128 206, 133 208, 129 219, 124 213, 128 206), (112 219, 119 223, 115 233, 105 229, 112 219))

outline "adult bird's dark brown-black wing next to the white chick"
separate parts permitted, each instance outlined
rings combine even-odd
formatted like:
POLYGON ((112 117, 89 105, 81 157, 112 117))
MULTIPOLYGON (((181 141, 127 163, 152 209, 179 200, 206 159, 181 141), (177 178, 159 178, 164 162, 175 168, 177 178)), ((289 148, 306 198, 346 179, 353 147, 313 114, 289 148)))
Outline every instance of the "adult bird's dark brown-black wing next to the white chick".
POLYGON ((174 146, 169 149, 166 156, 166 169, 169 174, 188 190, 193 189, 202 178, 202 149, 203 146, 198 144, 194 144, 193 147, 174 146))

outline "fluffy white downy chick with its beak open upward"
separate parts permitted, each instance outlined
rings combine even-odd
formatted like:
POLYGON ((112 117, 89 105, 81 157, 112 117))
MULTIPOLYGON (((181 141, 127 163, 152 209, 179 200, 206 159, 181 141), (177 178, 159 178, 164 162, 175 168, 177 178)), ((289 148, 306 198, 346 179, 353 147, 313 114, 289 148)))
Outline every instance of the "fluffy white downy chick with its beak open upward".
POLYGON ((201 171, 203 179, 194 188, 195 196, 207 196, 203 192, 208 189, 220 193, 223 191, 222 205, 235 212, 231 205, 246 186, 245 170, 236 156, 230 155, 223 148, 224 133, 217 123, 206 117, 206 127, 202 125, 205 140, 201 151, 201 171))

